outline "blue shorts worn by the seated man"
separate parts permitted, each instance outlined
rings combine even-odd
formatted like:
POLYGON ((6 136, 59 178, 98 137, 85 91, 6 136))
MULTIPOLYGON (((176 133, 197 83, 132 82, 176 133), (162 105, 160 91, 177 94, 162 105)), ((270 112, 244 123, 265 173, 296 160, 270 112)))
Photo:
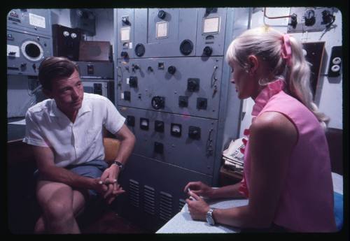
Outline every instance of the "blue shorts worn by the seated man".
MULTIPOLYGON (((102 173, 106 168, 108 168, 108 164, 106 161, 102 160, 94 160, 85 162, 83 164, 78 165, 69 165, 64 167, 66 170, 70 170, 73 173, 76 173, 77 175, 83 176, 83 177, 91 177, 91 178, 97 178, 101 177, 102 173)), ((38 170, 34 172, 34 177, 38 176, 38 170)), ((90 197, 97 197, 97 193, 94 190, 89 189, 90 197)))

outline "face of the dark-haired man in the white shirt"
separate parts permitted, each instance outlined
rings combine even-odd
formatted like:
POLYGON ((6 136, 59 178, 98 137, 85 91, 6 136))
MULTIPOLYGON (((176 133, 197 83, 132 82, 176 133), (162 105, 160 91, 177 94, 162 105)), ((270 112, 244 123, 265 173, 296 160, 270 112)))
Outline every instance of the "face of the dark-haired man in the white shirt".
POLYGON ((59 110, 65 114, 76 112, 83 103, 84 89, 78 71, 74 71, 68 78, 52 82, 52 90, 46 91, 50 98, 54 98, 59 110))

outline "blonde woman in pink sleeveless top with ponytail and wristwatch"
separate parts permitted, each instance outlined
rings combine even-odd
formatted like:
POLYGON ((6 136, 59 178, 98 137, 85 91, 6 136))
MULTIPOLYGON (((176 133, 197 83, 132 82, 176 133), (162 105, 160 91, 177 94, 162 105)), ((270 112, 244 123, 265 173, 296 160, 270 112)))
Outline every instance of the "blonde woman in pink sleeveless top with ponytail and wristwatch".
POLYGON ((244 179, 219 189, 188 183, 191 217, 210 216, 211 224, 242 231, 336 231, 324 133, 329 119, 312 101, 302 45, 272 28, 249 29, 232 41, 226 60, 238 97, 255 101, 246 130, 244 179), (212 209, 200 196, 245 197, 248 205, 212 209))

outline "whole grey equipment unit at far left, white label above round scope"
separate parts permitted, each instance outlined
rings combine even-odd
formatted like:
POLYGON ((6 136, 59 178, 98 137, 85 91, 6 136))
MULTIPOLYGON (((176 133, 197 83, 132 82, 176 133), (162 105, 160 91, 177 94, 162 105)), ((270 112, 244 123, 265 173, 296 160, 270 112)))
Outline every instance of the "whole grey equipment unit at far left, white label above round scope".
POLYGON ((38 66, 52 56, 49 9, 12 9, 7 15, 7 73, 38 75, 38 66))

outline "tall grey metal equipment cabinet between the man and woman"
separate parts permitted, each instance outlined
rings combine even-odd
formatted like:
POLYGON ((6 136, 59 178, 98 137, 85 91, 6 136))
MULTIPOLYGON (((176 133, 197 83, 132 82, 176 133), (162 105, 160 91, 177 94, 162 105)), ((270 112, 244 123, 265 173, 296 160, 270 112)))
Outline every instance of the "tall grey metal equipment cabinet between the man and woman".
POLYGON ((155 229, 181 210, 187 182, 217 182, 220 103, 229 82, 222 80, 223 54, 225 36, 232 36, 226 17, 233 19, 233 10, 123 8, 114 14, 116 103, 137 138, 120 177, 127 195, 118 199, 118 213, 155 229))

